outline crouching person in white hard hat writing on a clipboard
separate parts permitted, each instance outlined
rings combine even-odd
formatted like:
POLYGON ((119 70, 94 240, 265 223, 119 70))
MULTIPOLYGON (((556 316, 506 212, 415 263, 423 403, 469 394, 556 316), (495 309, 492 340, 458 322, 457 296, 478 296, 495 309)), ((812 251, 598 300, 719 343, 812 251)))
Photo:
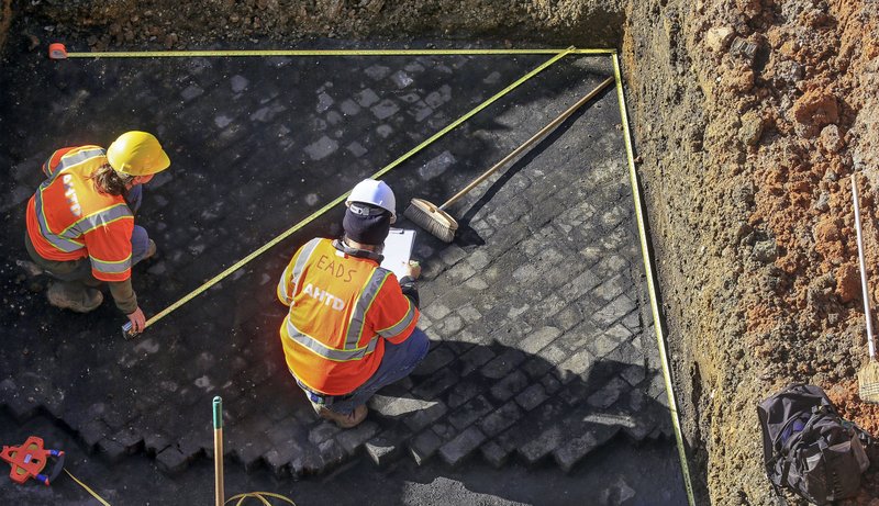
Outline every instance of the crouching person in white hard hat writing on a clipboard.
POLYGON ((397 218, 391 189, 359 182, 345 202, 345 236, 315 238, 293 255, 278 283, 290 306, 280 328, 287 366, 315 413, 351 428, 366 418, 366 402, 405 378, 427 355, 419 319, 415 265, 397 280, 379 267, 397 218))

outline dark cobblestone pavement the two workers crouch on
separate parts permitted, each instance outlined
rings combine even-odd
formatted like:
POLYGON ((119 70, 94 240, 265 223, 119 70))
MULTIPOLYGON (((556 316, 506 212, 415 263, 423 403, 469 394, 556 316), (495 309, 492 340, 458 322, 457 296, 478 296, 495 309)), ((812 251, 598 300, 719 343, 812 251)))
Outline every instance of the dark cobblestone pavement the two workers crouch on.
MULTIPOLYGON (((318 420, 292 383, 274 294, 299 244, 340 233, 341 207, 135 341, 109 302, 89 315, 49 307, 45 277, 16 262, 54 148, 154 132, 173 165, 146 187, 137 220, 159 255, 134 283, 155 314, 545 59, 22 58, 0 77, 2 404, 20 420, 62 420, 111 461, 145 451, 168 472, 211 454, 218 394, 226 451, 278 475, 361 452, 569 470, 620 435, 669 438, 612 89, 454 206, 455 243, 420 233, 434 346, 353 430, 318 420)), ((399 211, 412 196, 443 202, 610 74, 607 57, 568 57, 508 94, 385 177, 399 211)))

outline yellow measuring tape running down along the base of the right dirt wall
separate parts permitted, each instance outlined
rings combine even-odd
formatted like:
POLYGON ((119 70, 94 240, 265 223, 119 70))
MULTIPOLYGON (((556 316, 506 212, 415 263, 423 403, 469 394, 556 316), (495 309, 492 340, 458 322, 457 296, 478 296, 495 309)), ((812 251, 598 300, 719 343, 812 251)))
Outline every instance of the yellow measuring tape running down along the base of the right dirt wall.
POLYGON ((661 321, 659 319, 659 305, 656 301, 656 286, 653 277, 653 259, 650 258, 650 250, 647 245, 647 233, 644 225, 644 214, 642 212, 641 192, 638 191, 638 175, 635 170, 635 158, 632 151, 632 137, 628 132, 628 114, 625 108, 625 94, 623 93, 623 80, 620 75, 620 57, 614 54, 613 59, 613 74, 616 77, 616 97, 620 102, 620 117, 623 123, 623 137, 625 139, 625 155, 628 160, 628 177, 632 184, 632 196, 635 200, 635 215, 638 223, 638 236, 641 238, 641 254, 644 261, 644 271, 647 277, 647 290, 650 295, 650 311, 653 312, 653 327, 656 330, 656 341, 659 346, 659 360, 663 364, 663 376, 666 383, 666 395, 668 396, 668 409, 671 414, 671 425, 675 427, 675 439, 678 443, 678 457, 680 459, 681 472, 683 474, 683 486, 687 488, 687 499, 690 506, 696 506, 693 497, 693 487, 690 482, 690 468, 687 464, 687 452, 683 447, 683 435, 680 430, 680 421, 678 419, 678 405, 675 401, 675 390, 671 383, 671 373, 668 367, 668 355, 666 353, 666 338, 663 331, 661 321))

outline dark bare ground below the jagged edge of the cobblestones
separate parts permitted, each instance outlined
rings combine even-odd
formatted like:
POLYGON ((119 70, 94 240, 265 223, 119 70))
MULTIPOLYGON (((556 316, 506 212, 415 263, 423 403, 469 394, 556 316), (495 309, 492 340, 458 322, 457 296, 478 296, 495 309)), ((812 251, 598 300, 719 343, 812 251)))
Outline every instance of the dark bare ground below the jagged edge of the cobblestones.
MULTIPOLYGON (((109 463, 90 456, 69 430, 36 416, 19 426, 0 411, 0 434, 5 441, 21 443, 37 434, 54 448, 66 452, 65 469, 113 505, 204 505, 213 504, 213 462, 199 459, 186 472, 167 475, 155 459, 131 456, 109 463)), ((636 446, 605 445, 565 473, 554 464, 526 465, 511 461, 501 469, 478 459, 450 469, 419 465, 399 459, 378 468, 368 458, 353 459, 329 474, 299 480, 276 479, 268 470, 245 472, 240 465, 225 466, 225 495, 270 491, 296 501, 298 506, 679 506, 686 504, 676 487, 680 468, 666 465, 674 459, 674 446, 647 441, 636 446), (600 472, 596 472, 600 469, 600 472), (645 470, 649 470, 645 473, 645 470)), ((0 497, 9 505, 97 505, 88 493, 67 476, 44 486, 35 482, 16 485, 0 480, 0 497)), ((249 501, 244 504, 258 504, 249 501)), ((274 501, 272 504, 283 504, 274 501)))

